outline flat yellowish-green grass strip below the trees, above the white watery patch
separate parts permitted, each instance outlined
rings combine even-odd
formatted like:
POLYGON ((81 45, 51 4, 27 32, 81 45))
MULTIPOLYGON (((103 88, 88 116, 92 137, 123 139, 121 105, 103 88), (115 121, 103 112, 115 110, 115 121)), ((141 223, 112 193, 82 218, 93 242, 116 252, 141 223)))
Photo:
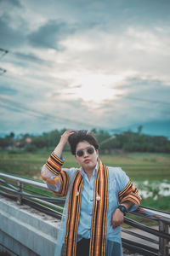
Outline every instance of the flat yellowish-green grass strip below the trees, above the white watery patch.
MULTIPOLYGON (((39 177, 41 167, 50 152, 0 151, 0 172, 23 177, 39 177)), ((65 167, 77 166, 74 156, 65 152, 65 167)), ((119 166, 132 180, 163 180, 170 177, 170 155, 152 153, 102 154, 100 159, 107 166, 119 166)))

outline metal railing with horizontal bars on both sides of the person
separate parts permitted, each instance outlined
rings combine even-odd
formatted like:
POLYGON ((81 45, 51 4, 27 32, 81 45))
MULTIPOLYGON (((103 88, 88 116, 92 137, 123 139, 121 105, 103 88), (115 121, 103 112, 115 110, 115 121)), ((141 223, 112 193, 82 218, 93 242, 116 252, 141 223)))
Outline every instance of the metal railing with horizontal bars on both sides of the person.
MULTIPOLYGON (((49 190, 45 183, 0 172, 1 195, 16 200, 18 204, 30 205, 41 212, 61 219, 65 198, 53 197, 52 192, 50 194, 47 191, 49 190)), ((123 247, 141 255, 170 255, 170 214, 168 212, 139 207, 137 211, 131 212, 128 216, 124 218, 124 223, 133 229, 122 228, 123 247), (134 215, 140 220, 147 218, 155 221, 157 230, 134 220, 134 215)))

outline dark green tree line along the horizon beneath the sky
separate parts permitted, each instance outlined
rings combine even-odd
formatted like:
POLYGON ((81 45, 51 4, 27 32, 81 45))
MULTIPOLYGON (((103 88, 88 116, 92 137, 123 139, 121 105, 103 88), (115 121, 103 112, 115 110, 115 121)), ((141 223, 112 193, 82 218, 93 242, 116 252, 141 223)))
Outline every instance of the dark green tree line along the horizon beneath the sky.
MULTIPOLYGON (((43 132, 42 135, 37 136, 28 133, 15 136, 14 132, 11 132, 6 137, 0 138, 0 148, 11 150, 18 148, 28 152, 33 152, 40 148, 51 149, 59 143, 60 136, 65 130, 43 132)), ((141 125, 137 132, 123 131, 114 135, 105 130, 93 129, 91 132, 98 139, 99 149, 102 153, 111 153, 115 150, 170 153, 170 141, 167 137, 143 134, 141 125)), ((65 150, 70 150, 68 145, 65 150)))

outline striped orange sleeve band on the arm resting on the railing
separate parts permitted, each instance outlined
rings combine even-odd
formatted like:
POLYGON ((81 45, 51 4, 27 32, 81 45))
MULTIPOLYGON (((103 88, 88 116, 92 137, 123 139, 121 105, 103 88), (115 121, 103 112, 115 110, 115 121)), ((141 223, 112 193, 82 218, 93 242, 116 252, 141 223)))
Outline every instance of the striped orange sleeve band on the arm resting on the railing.
POLYGON ((121 204, 125 201, 132 201, 138 207, 141 201, 141 198, 138 195, 138 189, 136 189, 131 182, 127 183, 127 186, 119 192, 118 197, 121 204))

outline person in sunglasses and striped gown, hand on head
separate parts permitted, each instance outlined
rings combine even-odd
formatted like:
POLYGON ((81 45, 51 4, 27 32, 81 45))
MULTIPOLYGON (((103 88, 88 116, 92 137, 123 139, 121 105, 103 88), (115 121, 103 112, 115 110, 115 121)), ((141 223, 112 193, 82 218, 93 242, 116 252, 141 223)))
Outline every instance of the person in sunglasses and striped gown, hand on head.
POLYGON ((141 199, 120 167, 99 159, 94 134, 65 131, 41 175, 55 195, 66 196, 55 256, 122 256, 120 225, 141 199), (80 168, 63 168, 67 142, 80 168))

